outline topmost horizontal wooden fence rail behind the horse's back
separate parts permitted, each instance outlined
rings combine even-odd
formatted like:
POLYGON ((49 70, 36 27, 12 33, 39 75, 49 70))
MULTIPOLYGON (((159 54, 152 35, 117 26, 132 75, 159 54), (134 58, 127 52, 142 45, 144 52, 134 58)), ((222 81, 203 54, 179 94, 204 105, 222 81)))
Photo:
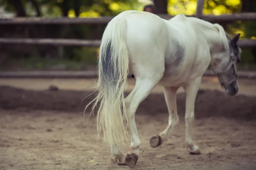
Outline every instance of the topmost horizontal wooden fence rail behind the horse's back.
MULTIPOLYGON (((172 15, 159 14, 164 19, 171 19, 172 15)), ((187 15, 188 17, 196 17, 196 15, 187 15)), ((86 25, 99 25, 107 24, 113 19, 111 17, 99 17, 99 18, 44 18, 44 17, 15 17, 12 19, 0 18, 0 25, 6 24, 86 24, 86 25)), ((207 20, 209 22, 218 21, 234 21, 234 20, 256 20, 256 13, 243 12, 239 14, 223 14, 223 15, 198 15, 199 18, 207 20)))

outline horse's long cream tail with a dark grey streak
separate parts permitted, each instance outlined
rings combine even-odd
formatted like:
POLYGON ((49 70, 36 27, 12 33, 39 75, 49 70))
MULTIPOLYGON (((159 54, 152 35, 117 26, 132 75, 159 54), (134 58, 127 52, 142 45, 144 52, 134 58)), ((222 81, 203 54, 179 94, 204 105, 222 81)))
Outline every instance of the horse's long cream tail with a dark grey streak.
POLYGON ((99 80, 96 84, 98 95, 93 100, 95 103, 92 108, 93 112, 99 103, 98 135, 103 129, 104 142, 108 144, 124 143, 128 139, 124 98, 128 65, 126 20, 114 18, 108 23, 102 36, 98 58, 99 80))

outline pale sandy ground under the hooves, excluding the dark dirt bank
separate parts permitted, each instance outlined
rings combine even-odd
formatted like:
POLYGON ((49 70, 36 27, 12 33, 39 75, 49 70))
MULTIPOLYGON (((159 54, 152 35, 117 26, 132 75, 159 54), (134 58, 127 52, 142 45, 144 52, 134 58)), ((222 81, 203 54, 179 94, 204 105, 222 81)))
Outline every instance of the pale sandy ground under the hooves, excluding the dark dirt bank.
MULTIPOLYGON (((1 170, 125 170, 111 164, 110 148, 96 136, 94 119, 79 113, 0 111, 1 170), (95 162, 90 162, 90 161, 95 162)), ((149 139, 167 125, 167 113, 137 115, 142 141, 136 170, 255 170, 256 122, 224 118, 195 120, 194 138, 201 155, 185 148, 181 119, 169 141, 151 148, 149 139)), ((121 147, 129 151, 129 144, 121 147)))

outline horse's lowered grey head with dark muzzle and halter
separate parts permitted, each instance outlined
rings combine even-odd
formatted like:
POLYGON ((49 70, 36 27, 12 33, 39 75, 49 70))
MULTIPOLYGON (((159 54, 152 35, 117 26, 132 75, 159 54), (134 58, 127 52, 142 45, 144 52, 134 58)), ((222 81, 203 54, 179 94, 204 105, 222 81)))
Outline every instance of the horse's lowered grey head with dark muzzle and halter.
POLYGON ((228 48, 221 48, 218 52, 212 54, 212 68, 218 75, 221 88, 225 92, 234 96, 239 91, 237 85, 236 65, 240 61, 241 48, 237 45, 240 34, 236 34, 233 38, 228 38, 228 48))

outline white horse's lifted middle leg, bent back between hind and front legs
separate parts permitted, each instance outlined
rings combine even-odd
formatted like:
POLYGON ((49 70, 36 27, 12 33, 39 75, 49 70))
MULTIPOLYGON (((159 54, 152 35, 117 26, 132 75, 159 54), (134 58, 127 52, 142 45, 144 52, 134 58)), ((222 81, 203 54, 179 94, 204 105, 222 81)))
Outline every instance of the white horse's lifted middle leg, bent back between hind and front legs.
POLYGON ((176 93, 178 88, 176 87, 165 87, 164 88, 164 97, 166 100, 166 105, 169 112, 169 121, 166 129, 157 136, 153 136, 150 139, 150 146, 157 147, 167 141, 169 135, 172 131, 172 128, 179 122, 179 117, 177 115, 177 105, 176 105, 176 93))

